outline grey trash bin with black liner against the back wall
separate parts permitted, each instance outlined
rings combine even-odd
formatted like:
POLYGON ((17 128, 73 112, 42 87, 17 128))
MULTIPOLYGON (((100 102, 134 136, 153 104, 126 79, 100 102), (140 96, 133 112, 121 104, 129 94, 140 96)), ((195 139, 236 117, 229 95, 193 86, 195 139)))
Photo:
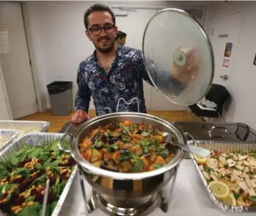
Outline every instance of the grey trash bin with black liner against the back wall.
POLYGON ((47 85, 53 115, 69 115, 73 109, 71 81, 54 81, 47 85))

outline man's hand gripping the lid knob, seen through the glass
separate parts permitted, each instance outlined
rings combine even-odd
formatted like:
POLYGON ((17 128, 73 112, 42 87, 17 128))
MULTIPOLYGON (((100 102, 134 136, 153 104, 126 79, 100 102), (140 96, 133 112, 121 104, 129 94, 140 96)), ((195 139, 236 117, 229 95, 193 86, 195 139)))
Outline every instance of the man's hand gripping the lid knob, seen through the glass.
POLYGON ((175 63, 172 64, 172 76, 180 81, 181 84, 188 84, 190 81, 194 81, 198 76, 198 66, 200 60, 195 58, 195 50, 191 49, 186 52, 187 64, 179 67, 175 63))

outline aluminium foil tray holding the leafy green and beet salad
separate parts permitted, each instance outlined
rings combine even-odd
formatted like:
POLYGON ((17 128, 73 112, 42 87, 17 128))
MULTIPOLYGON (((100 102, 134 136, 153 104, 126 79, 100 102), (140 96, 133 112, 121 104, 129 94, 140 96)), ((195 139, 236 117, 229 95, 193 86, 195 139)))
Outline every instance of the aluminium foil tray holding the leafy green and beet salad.
MULTIPOLYGON (((9 143, 8 146, 0 153, 0 161, 7 161, 12 155, 18 150, 24 148, 25 146, 38 146, 38 145, 46 145, 49 143, 53 143, 54 140, 63 137, 63 133, 50 133, 50 132, 31 132, 21 137, 14 139, 12 143, 9 143)), ((67 142, 70 141, 70 138, 66 136, 64 138, 67 142)), ((66 199, 67 194, 71 188, 71 184, 74 180, 74 177, 78 173, 78 168, 75 166, 74 170, 69 177, 69 181, 67 181, 66 186, 63 189, 61 197, 58 199, 58 203, 56 204, 55 209, 51 216, 57 216, 61 211, 61 207, 63 206, 63 202, 66 199)), ((0 212, 0 215, 4 215, 3 212, 0 212)))

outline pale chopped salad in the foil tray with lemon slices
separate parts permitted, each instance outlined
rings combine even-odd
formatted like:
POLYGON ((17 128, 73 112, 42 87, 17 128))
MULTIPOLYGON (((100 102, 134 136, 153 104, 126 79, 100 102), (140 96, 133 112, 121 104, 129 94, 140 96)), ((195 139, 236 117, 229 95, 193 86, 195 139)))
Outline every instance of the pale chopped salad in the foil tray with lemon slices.
POLYGON ((256 206, 255 152, 220 153, 212 150, 211 155, 203 161, 204 163, 201 163, 202 160, 198 162, 210 189, 214 182, 222 182, 222 185, 228 186, 230 193, 227 195, 226 190, 224 199, 220 199, 212 190, 217 199, 231 206, 256 206))

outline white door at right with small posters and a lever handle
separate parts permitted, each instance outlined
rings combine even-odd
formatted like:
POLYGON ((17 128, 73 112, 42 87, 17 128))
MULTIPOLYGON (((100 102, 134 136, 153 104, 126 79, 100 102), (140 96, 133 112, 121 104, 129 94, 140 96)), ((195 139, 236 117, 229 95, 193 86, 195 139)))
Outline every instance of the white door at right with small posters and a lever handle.
POLYGON ((215 84, 222 86, 229 84, 242 28, 242 18, 242 12, 237 12, 213 19, 210 40, 215 59, 215 74, 213 78, 213 83, 215 84), (231 45, 231 54, 226 53, 228 55, 224 56, 227 43, 229 47, 231 45))

